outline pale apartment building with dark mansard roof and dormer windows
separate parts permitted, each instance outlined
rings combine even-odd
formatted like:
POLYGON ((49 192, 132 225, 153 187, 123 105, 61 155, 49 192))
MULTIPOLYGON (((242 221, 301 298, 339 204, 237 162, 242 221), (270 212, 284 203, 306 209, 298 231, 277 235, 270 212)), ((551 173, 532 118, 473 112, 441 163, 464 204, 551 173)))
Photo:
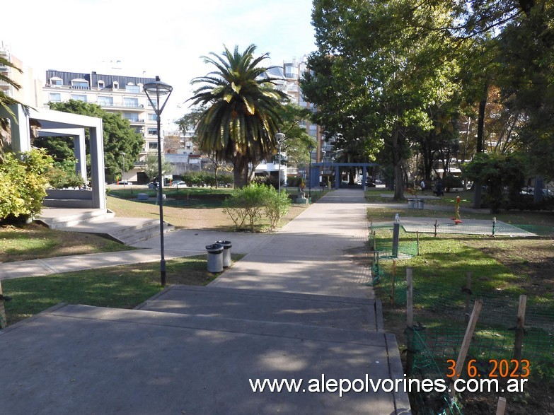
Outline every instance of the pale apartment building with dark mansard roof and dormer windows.
MULTIPOLYGON (((146 153, 158 151, 158 127, 156 113, 142 86, 154 82, 155 79, 98 74, 95 71, 81 73, 56 70, 47 70, 45 79, 45 85, 42 87, 44 107, 51 102, 79 100, 100 105, 106 112, 120 114, 129 120, 131 127, 144 137, 144 148, 134 168, 125 173, 125 178, 129 182, 146 182, 142 167, 146 153)), ((163 141, 161 150, 163 152, 163 141)))

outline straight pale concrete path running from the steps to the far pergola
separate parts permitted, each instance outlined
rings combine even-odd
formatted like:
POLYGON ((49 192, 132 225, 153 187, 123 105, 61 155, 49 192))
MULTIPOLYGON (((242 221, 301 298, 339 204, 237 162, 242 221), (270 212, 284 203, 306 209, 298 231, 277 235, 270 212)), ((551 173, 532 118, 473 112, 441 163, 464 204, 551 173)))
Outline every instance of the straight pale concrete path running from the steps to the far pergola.
POLYGON ((364 192, 328 193, 221 274, 212 286, 373 298, 364 192))

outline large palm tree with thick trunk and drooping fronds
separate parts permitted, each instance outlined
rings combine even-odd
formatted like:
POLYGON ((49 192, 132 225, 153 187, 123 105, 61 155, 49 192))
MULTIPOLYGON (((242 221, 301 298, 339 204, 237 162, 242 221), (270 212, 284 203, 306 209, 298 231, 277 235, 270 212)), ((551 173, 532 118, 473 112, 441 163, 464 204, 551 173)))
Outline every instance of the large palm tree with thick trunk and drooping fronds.
POLYGON ((192 79, 192 84, 203 85, 190 100, 206 107, 196 124, 200 150, 233 163, 235 187, 244 187, 252 177, 249 165, 255 168, 277 151, 278 110, 287 95, 275 90, 276 78, 258 66, 267 53, 255 58, 255 45, 243 53, 238 46, 233 52, 224 48, 221 55, 212 52, 212 57, 204 57, 217 71, 192 79))

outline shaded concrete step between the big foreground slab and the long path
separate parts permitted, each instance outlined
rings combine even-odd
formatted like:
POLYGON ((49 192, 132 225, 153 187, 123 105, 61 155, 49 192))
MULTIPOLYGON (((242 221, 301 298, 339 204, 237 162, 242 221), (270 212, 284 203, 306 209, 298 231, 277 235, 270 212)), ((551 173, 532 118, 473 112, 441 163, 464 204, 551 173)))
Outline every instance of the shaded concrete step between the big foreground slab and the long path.
POLYGON ((383 332, 381 302, 216 286, 169 286, 137 310, 383 332))

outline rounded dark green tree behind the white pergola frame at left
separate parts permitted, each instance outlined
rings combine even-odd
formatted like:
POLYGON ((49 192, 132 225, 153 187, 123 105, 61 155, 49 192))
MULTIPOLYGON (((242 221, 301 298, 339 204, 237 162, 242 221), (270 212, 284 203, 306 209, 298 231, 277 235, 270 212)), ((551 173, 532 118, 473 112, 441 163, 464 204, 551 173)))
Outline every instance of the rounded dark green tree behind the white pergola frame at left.
MULTIPOLYGON (((144 139, 141 134, 132 129, 128 119, 124 119, 119 114, 106 112, 100 105, 84 103, 79 100, 69 100, 66 103, 50 103, 50 109, 102 118, 106 176, 115 177, 122 170, 121 153, 126 155, 125 170, 128 171, 134 167, 134 162, 138 160, 139 153, 144 148, 144 139)), ((35 145, 49 146, 47 141, 50 141, 49 137, 35 139, 35 145)), ((88 134, 86 142, 88 148, 88 134)), ((73 153, 71 149, 72 141, 54 139, 54 143, 59 146, 57 151, 53 151, 52 146, 49 148, 54 159, 63 159, 66 153, 73 153), (64 144, 66 147, 64 147, 64 144)))

